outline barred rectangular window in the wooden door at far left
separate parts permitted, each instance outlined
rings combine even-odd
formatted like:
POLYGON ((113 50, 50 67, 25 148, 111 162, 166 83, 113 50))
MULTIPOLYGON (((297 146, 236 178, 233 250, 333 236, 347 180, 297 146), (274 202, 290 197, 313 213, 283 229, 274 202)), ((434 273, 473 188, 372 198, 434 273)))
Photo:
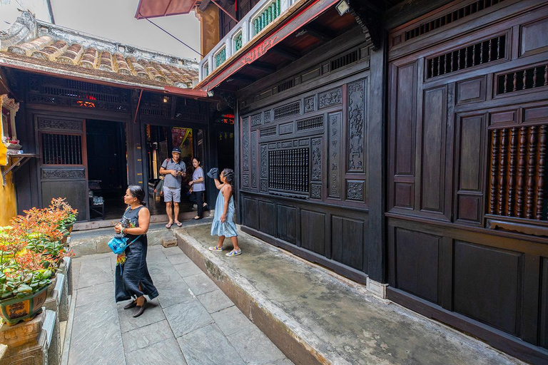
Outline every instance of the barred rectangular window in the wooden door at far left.
POLYGON ((82 136, 42 133, 44 165, 82 165, 82 136))

